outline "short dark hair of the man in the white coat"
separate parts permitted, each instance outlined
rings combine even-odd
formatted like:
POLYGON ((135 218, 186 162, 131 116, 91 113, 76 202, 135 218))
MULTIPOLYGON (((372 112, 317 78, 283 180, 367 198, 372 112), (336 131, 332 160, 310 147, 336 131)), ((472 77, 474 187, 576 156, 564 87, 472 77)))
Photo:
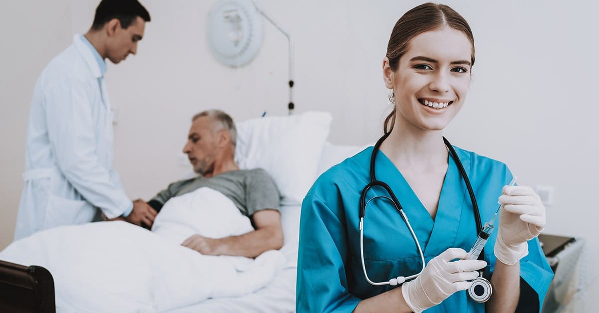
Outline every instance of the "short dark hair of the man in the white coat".
POLYGON ((150 13, 137 0, 102 0, 96 8, 92 29, 99 31, 112 19, 118 19, 120 27, 127 29, 138 16, 150 22, 150 13))

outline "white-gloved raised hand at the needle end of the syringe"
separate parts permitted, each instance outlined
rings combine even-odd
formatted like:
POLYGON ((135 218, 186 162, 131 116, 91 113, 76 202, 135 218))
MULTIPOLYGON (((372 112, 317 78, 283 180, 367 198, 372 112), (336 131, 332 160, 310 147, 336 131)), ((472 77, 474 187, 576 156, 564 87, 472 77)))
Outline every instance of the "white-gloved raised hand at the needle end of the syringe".
POLYGON ((505 186, 499 197, 501 211, 495 241, 495 257, 514 265, 527 256, 527 241, 539 236, 545 227, 545 206, 528 186, 505 186))

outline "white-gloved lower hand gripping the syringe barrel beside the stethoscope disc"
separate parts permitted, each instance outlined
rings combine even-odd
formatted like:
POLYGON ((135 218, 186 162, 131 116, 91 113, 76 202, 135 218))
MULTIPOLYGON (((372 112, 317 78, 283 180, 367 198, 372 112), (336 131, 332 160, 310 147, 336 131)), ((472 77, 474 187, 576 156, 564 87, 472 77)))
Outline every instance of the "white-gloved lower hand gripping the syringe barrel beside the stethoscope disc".
POLYGON ((449 248, 434 257, 413 281, 404 282, 401 292, 412 311, 419 313, 438 305, 453 293, 470 288, 472 280, 479 276, 478 269, 486 266, 485 261, 464 259, 466 251, 449 248))

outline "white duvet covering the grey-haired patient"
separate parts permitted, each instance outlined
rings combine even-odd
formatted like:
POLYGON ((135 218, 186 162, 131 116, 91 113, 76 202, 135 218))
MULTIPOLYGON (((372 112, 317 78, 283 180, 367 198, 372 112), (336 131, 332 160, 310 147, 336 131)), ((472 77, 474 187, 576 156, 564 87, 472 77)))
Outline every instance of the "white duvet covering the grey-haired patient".
POLYGON ((58 227, 14 242, 0 259, 49 269, 58 312, 161 312, 242 296, 285 263, 279 251, 253 260, 182 247, 194 233, 222 238, 253 230, 231 200, 209 188, 169 200, 152 230, 122 221, 58 227))

